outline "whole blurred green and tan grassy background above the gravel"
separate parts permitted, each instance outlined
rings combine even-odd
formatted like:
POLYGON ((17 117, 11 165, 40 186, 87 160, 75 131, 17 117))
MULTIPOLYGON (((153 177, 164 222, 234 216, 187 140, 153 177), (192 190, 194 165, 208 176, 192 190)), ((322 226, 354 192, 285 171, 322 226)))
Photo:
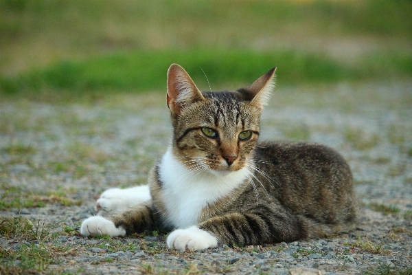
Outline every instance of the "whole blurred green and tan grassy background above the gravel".
POLYGON ((0 0, 0 96, 408 82, 412 1, 0 0), (205 74, 203 74, 203 71, 205 74))

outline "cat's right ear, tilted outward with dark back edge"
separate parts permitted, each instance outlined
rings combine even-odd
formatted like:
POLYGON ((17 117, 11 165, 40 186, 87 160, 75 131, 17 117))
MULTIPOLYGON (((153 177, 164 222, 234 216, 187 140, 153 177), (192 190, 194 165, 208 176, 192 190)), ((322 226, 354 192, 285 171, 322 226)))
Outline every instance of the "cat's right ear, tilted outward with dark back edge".
POLYGON ((275 87, 275 71, 276 67, 269 72, 260 76, 254 83, 244 89, 240 89, 242 94, 247 94, 247 97, 251 100, 249 104, 263 109, 271 97, 273 88, 275 87))

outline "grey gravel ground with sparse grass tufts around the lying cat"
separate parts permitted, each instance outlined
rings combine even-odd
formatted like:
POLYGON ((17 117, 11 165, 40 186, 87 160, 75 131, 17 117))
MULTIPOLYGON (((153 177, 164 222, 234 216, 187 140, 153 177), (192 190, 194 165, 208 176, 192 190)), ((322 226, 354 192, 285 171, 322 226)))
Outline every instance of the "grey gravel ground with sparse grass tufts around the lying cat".
MULTIPOLYGON (((55 238, 45 243, 65 252, 54 254, 45 274, 412 272, 412 83, 300 90, 277 89, 262 118, 262 140, 310 140, 340 151, 362 202, 354 232, 184 253, 169 250, 157 232, 114 239, 78 234, 100 192, 144 184, 165 151, 171 128, 163 94, 93 103, 0 102, 0 198, 45 202, 0 204, 0 217, 52 226, 55 238)), ((30 242, 36 241, 0 236, 5 250, 30 242)))

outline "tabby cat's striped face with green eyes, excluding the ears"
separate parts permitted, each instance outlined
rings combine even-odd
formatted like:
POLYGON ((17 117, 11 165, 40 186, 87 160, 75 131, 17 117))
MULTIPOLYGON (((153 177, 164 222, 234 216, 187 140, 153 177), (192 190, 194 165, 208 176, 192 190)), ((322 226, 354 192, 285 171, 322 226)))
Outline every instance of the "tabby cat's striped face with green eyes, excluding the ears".
POLYGON ((247 163, 259 137, 260 110, 235 92, 203 92, 205 100, 174 118, 174 155, 187 166, 236 171, 247 163))

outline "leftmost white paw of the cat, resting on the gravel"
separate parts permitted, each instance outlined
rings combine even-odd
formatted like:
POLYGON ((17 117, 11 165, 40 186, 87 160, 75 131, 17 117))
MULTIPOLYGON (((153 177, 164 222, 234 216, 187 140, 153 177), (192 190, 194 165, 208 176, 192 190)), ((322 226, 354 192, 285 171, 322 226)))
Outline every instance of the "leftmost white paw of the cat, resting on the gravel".
POLYGON ((109 236, 124 236, 126 235, 126 230, 119 226, 115 227, 115 223, 104 217, 95 216, 85 219, 80 228, 80 233, 84 236, 90 235, 109 235, 109 236))

